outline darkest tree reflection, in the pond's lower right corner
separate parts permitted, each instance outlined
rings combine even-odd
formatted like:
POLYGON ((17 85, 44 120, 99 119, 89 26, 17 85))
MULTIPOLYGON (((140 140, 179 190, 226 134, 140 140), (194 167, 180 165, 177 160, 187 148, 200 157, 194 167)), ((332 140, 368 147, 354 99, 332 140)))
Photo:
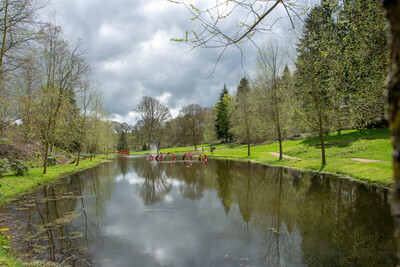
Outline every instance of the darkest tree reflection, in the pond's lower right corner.
POLYGON ((387 266, 395 262, 387 194, 313 175, 299 208, 304 262, 387 266), (385 204, 386 203, 386 204, 385 204))

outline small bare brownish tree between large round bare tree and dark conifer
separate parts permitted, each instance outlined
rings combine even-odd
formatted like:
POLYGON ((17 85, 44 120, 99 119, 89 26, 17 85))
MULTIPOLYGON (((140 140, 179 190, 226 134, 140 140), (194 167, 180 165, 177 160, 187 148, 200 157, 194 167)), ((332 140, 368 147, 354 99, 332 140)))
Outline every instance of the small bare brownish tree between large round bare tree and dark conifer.
POLYGON ((180 116, 186 140, 197 150, 197 144, 203 141, 205 111, 198 104, 190 104, 182 107, 180 116))

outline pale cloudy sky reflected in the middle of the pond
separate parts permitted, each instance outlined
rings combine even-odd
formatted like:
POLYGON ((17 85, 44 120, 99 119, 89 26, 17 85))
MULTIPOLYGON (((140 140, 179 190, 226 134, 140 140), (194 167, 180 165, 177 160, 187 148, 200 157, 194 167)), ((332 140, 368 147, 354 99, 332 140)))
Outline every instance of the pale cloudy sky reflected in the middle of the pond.
MULTIPOLYGON (((104 241, 93 249, 98 258, 110 258, 118 266, 262 265, 262 229, 249 223, 246 232, 238 207, 226 215, 215 190, 205 190, 197 201, 183 199, 183 182, 168 178, 172 189, 164 201, 145 206, 138 194, 145 179, 129 172, 115 181, 118 193, 107 202, 104 241)), ((301 242, 296 233, 290 240, 301 242)), ((300 266, 301 251, 290 254, 295 256, 291 263, 300 266)))

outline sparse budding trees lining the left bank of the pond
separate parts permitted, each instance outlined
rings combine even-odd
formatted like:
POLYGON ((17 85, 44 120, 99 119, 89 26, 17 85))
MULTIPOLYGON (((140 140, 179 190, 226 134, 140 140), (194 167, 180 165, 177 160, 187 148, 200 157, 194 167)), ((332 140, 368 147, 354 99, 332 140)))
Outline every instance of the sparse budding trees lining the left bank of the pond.
POLYGON ((39 20, 44 0, 0 6, 0 138, 43 147, 44 173, 55 149, 114 149, 114 128, 80 40, 39 20))

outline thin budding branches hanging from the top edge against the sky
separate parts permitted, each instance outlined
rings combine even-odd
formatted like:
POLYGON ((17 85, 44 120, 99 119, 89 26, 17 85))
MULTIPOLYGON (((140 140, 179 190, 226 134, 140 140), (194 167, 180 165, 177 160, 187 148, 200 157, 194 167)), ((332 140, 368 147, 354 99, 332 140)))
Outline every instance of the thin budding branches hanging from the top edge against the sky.
POLYGON ((273 18, 271 15, 274 10, 282 7, 292 25, 291 15, 297 14, 294 10, 296 5, 283 0, 218 0, 204 9, 188 4, 185 0, 169 1, 185 6, 193 16, 191 20, 200 26, 199 30, 186 31, 184 38, 172 38, 171 41, 185 42, 193 48, 221 48, 217 63, 230 46, 238 48, 242 57, 241 44, 251 42, 257 46, 252 37, 257 33, 272 31, 278 20, 269 20, 273 18))

